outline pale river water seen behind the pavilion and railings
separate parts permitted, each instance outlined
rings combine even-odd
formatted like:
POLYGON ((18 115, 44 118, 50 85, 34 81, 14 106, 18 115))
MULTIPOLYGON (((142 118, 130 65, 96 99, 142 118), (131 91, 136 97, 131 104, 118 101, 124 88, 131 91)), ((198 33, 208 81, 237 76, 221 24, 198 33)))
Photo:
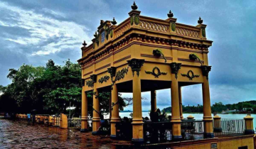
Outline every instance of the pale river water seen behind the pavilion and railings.
MULTIPOLYGON (((120 112, 119 115, 121 116, 121 118, 123 118, 124 116, 127 116, 129 118, 131 118, 131 116, 129 116, 129 112, 120 112)), ((171 114, 167 114, 167 115, 171 115, 171 114)), ((183 117, 186 118, 189 115, 194 116, 195 119, 197 120, 201 120, 203 119, 203 114, 183 114, 183 117)), ((149 117, 149 112, 142 112, 142 116, 149 117)), ((246 114, 218 114, 218 116, 220 116, 221 118, 238 118, 238 119, 242 119, 246 116, 246 114)), ((253 128, 256 128, 256 114, 252 114, 251 115, 254 119, 253 119, 253 128)))

